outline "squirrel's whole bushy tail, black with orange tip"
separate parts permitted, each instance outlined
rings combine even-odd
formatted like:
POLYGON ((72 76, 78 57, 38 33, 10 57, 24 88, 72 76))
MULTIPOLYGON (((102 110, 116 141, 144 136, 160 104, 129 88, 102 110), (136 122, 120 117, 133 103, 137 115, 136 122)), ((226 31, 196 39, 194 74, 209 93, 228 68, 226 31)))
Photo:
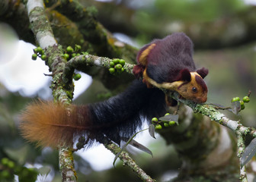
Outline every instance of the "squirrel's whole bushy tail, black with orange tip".
POLYGON ((21 134, 38 146, 72 145, 84 136, 89 142, 102 136, 120 143, 150 119, 165 113, 165 95, 158 89, 147 89, 136 80, 124 93, 91 105, 64 105, 37 101, 21 115, 21 134))

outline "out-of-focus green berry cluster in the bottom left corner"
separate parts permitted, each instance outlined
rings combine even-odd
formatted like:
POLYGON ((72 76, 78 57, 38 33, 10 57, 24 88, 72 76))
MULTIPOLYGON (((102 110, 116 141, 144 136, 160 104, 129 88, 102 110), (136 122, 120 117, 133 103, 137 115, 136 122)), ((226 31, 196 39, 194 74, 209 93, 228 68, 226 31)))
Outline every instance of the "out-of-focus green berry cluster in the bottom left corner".
POLYGON ((37 180, 37 170, 16 165, 9 158, 2 158, 0 163, 0 181, 13 181, 14 174, 18 175, 19 181, 34 182, 37 180))

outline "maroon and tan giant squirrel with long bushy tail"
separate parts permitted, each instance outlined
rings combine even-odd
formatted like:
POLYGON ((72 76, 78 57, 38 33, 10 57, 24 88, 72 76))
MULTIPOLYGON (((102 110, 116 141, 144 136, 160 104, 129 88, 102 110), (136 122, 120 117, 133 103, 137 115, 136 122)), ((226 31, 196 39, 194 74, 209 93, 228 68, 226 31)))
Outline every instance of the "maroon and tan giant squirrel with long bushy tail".
POLYGON ((139 50, 133 68, 138 80, 126 91, 104 102, 71 105, 68 109, 59 103, 33 102, 21 115, 21 133, 39 146, 72 146, 81 136, 88 146, 102 137, 120 143, 122 137, 136 133, 145 118, 150 121, 165 114, 168 99, 158 88, 176 91, 197 103, 206 102, 203 78, 208 70, 197 70, 192 56, 193 42, 184 33, 155 39, 139 50))

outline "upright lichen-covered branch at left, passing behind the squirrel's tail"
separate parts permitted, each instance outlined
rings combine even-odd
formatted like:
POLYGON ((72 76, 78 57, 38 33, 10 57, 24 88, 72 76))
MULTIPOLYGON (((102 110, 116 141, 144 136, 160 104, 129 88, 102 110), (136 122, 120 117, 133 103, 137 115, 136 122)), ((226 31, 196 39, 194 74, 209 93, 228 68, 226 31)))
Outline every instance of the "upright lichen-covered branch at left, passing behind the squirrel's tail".
MULTIPOLYGON (((69 84, 66 86, 62 82, 62 70, 65 66, 65 58, 62 56, 61 46, 57 45, 53 36, 53 30, 50 27, 50 21, 46 17, 43 1, 28 0, 27 14, 29 16, 31 30, 36 36, 40 47, 46 49, 48 61, 46 64, 53 71, 53 98, 69 105, 72 102, 72 93, 74 86, 69 84)), ((74 162, 71 149, 66 146, 59 146, 59 166, 62 174, 62 181, 76 181, 74 162)))

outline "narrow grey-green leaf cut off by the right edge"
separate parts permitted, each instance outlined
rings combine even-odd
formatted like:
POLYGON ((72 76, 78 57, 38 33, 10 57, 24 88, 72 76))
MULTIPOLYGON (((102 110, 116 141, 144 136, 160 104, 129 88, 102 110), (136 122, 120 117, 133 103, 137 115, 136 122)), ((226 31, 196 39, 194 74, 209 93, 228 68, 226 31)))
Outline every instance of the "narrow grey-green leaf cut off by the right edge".
POLYGON ((256 153, 256 138, 245 148, 245 152, 241 158, 241 165, 246 165, 256 153))

